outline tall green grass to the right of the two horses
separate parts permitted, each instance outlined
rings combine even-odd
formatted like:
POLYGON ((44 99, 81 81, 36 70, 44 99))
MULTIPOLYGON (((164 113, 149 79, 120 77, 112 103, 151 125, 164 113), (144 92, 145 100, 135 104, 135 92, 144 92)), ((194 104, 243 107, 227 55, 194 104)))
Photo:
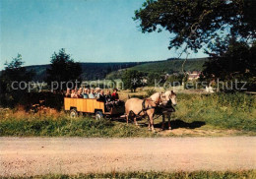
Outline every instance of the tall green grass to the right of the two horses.
POLYGON ((178 94, 175 118, 245 131, 256 131, 256 97, 244 93, 178 94))

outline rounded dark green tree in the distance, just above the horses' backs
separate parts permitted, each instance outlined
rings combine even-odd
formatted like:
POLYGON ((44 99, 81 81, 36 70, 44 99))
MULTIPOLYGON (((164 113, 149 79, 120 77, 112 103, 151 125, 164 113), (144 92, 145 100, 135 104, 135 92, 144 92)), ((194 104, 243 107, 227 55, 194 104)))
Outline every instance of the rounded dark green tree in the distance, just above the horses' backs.
POLYGON ((122 75, 122 81, 125 89, 131 89, 135 92, 137 88, 143 86, 144 73, 137 70, 127 70, 122 75))

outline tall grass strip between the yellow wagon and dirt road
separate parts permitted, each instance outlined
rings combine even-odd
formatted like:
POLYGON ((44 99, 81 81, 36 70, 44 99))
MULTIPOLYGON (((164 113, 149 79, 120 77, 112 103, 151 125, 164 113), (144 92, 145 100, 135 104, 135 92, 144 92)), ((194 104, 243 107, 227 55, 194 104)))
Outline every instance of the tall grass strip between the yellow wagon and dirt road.
POLYGON ((92 117, 72 119, 65 114, 27 115, 12 114, 0 120, 0 136, 45 136, 45 137, 153 137, 156 134, 125 122, 112 122, 92 117))

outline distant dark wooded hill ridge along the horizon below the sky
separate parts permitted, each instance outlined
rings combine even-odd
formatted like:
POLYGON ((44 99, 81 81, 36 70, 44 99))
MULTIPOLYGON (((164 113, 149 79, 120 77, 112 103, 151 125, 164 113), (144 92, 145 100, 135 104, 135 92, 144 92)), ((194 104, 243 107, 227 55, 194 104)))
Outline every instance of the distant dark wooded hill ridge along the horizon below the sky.
MULTIPOLYGON (((201 71, 207 59, 197 58, 188 59, 184 65, 185 71, 201 71)), ((160 74, 172 74, 182 71, 184 60, 167 59, 153 62, 120 62, 120 63, 80 63, 82 67, 83 80, 101 80, 101 79, 119 79, 123 69, 138 70, 141 72, 154 72, 160 74)), ((33 81, 42 82, 46 78, 46 69, 50 65, 32 65, 27 66, 27 70, 33 70, 35 76, 33 81)))

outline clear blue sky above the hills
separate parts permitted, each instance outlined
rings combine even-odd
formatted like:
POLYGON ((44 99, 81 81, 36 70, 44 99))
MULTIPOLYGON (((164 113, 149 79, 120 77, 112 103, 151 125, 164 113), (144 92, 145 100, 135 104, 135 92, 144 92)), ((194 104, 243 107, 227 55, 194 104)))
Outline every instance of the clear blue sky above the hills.
MULTIPOLYGON (((167 31, 142 33, 133 21, 145 0, 0 0, 0 70, 18 53, 25 65, 50 63, 59 49, 78 62, 178 57, 167 31)), ((184 55, 185 56, 185 55, 184 55)), ((189 58, 204 57, 202 51, 189 58)))

